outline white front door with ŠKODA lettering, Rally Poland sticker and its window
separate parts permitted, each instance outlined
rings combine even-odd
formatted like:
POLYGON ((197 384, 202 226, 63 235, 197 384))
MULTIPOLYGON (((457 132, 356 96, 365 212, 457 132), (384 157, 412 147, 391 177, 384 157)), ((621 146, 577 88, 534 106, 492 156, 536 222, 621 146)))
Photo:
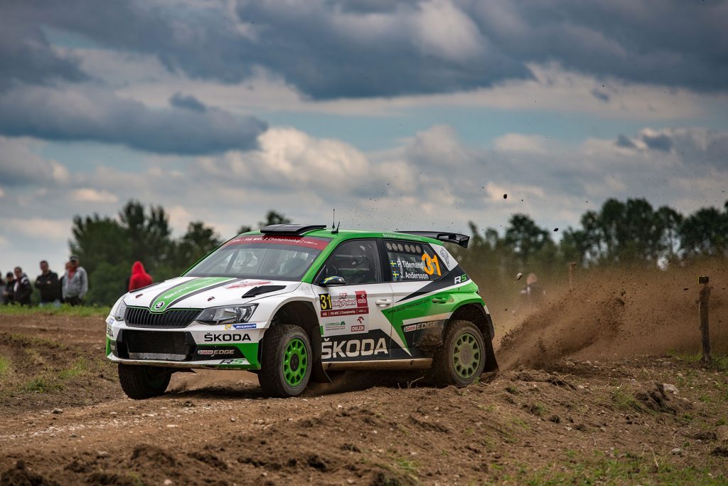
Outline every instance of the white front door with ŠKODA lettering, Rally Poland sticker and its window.
POLYGON ((325 369, 389 358, 391 324, 382 313, 392 307, 392 286, 383 278, 379 242, 347 240, 329 256, 314 278, 325 369), (344 278, 344 285, 321 286, 344 278))

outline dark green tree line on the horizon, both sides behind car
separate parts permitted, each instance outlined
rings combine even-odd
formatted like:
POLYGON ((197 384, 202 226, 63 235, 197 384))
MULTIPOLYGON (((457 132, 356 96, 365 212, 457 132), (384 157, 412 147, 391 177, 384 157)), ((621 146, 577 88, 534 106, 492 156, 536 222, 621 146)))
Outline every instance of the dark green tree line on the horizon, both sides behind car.
MULTIPOLYGON (((269 211, 258 227, 280 223, 290 219, 269 211)), ((560 275, 569 262, 580 267, 664 267, 728 256, 728 201, 722 209, 700 208, 684 216, 668 206, 653 208, 644 199, 609 199, 598 211, 584 213, 579 224, 559 231, 518 213, 500 233, 470 222, 470 247, 454 252, 476 282, 491 288, 512 282, 518 272, 560 275)), ((242 226, 238 232, 250 230, 242 226)), ((124 205, 118 218, 74 217, 72 235, 71 252, 89 274, 87 302, 106 305, 126 291, 136 260, 154 281, 162 281, 180 275, 222 243, 213 228, 199 221, 190 222, 180 238, 173 238, 164 208, 145 208, 135 200, 124 205)))

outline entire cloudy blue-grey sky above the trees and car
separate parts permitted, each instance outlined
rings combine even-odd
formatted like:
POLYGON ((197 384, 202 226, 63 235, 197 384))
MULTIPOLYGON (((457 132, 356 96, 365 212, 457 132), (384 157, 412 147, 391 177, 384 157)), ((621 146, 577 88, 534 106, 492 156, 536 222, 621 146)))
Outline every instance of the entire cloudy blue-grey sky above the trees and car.
POLYGON ((9 0, 0 270, 131 197, 296 222, 576 225, 728 199, 728 2, 9 0), (503 195, 507 193, 507 200, 503 195))

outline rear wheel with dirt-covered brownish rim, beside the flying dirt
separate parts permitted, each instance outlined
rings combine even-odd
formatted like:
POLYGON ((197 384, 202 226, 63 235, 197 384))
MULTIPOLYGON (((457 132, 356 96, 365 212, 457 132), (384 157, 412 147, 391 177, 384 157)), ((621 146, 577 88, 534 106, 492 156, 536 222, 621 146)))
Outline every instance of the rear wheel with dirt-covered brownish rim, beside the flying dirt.
POLYGON ((462 388, 483 375, 487 358, 486 343, 478 326, 470 321, 452 321, 445 329, 443 344, 435 352, 430 377, 437 386, 462 388))

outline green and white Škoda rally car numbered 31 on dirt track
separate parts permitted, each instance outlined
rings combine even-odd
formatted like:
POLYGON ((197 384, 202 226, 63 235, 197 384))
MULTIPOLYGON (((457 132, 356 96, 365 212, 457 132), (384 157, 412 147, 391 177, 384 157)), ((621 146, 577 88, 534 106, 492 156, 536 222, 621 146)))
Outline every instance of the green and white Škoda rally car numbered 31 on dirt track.
POLYGON ((478 286, 451 232, 277 224, 223 243, 181 277, 131 291, 106 319, 106 356, 127 396, 175 371, 247 369, 272 396, 337 370, 427 369, 466 386, 497 367, 478 286))

